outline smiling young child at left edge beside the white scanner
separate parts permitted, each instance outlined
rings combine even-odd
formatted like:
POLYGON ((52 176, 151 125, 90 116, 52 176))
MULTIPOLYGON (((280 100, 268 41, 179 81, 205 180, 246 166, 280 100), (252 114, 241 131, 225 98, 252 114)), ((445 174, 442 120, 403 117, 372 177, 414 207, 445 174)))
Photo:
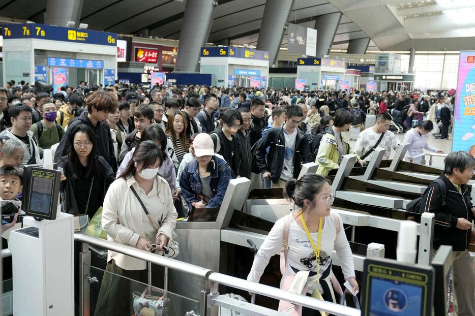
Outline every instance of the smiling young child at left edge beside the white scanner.
MULTIPOLYGON (((0 168, 0 203, 2 205, 2 213, 10 213, 7 209, 21 206, 21 202, 16 198, 21 191, 21 185, 23 181, 23 172, 17 167, 4 166, 0 168), (12 201, 12 202, 7 202, 12 201)), ((19 210, 19 207, 17 207, 19 210)), ((2 218, 2 233, 13 228, 18 218, 18 211, 14 212, 15 215, 11 220, 11 217, 2 218), (6 220, 8 219, 8 220, 6 220)))

